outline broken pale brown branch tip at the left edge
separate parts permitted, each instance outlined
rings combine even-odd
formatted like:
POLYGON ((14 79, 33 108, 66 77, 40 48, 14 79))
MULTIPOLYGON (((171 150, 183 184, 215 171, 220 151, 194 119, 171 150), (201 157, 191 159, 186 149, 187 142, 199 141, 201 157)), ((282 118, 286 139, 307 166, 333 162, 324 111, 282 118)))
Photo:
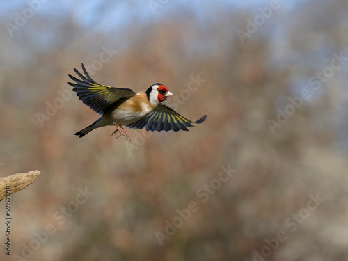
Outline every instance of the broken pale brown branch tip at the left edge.
POLYGON ((29 171, 0 178, 0 201, 6 197, 6 186, 11 188, 11 194, 16 193, 33 183, 40 173, 40 171, 29 171))

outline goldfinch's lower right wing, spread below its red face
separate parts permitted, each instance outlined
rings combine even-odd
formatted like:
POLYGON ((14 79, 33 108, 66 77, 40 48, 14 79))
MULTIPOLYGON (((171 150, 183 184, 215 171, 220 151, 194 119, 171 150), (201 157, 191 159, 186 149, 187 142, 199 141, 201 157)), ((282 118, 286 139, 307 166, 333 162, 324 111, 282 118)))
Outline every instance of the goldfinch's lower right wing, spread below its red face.
POLYGON ((191 123, 202 123, 205 121, 205 118, 207 118, 206 115, 196 122, 193 122, 191 120, 188 120, 187 118, 184 118, 184 116, 181 116, 179 113, 169 108, 168 106, 159 104, 153 111, 143 116, 143 118, 129 125, 126 125, 126 127, 133 129, 143 129, 143 127, 146 126, 146 130, 150 130, 152 132, 161 132, 163 130, 165 130, 166 132, 171 130, 178 132, 180 131, 180 129, 188 131, 189 129, 187 129, 187 127, 193 127, 191 123))

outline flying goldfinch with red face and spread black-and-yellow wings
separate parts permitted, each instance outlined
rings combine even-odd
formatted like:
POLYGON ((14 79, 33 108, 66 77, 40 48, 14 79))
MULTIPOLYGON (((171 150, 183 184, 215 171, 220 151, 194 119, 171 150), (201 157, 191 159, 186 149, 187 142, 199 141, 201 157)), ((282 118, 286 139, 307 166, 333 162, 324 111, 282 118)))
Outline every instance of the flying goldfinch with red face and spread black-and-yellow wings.
MULTIPOLYGON (((79 100, 84 102, 90 109, 99 113, 101 117, 91 125, 75 133, 80 138, 104 126, 116 125, 117 129, 112 134, 120 132, 120 136, 126 136, 132 141, 129 133, 121 126, 143 129, 147 131, 171 131, 178 132, 180 129, 188 131, 187 127, 193 127, 191 123, 202 123, 207 116, 203 116, 196 122, 184 118, 173 109, 162 104, 167 97, 173 96, 163 84, 153 84, 147 90, 137 93, 129 88, 115 88, 97 84, 87 73, 84 64, 82 70, 84 75, 74 68, 74 72, 81 79, 69 74, 76 82, 68 82, 72 91, 77 93, 79 100)), ((118 137, 120 137, 118 136, 118 137)), ((117 139, 117 138, 116 138, 117 139)))

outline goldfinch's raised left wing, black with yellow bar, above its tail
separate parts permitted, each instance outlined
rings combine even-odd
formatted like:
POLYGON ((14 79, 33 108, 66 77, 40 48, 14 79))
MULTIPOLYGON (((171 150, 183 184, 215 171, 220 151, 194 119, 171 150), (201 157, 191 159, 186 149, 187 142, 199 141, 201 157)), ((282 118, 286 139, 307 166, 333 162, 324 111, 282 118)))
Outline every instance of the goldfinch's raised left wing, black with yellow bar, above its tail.
POLYGON ((81 79, 77 79, 69 74, 69 77, 76 82, 68 82, 69 85, 74 87, 72 91, 77 93, 79 100, 84 102, 90 109, 93 109, 96 113, 104 114, 105 111, 120 99, 129 98, 136 95, 134 90, 128 88, 115 88, 102 84, 97 84, 88 75, 84 64, 82 63, 82 70, 84 74, 81 74, 74 68, 74 71, 79 75, 81 79))

